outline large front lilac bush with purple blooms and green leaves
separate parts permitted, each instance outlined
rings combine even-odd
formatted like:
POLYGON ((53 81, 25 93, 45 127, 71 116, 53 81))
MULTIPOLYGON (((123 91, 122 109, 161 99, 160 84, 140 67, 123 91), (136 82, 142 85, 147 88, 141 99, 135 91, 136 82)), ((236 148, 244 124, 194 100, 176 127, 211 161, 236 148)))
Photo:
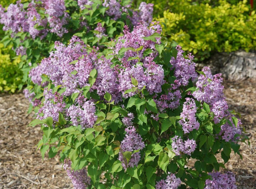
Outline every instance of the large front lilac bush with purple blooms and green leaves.
POLYGON ((228 162, 245 139, 221 74, 204 67, 198 76, 193 56, 161 31, 124 26, 102 52, 76 36, 56 41, 31 75, 44 87, 25 91, 38 112, 30 126, 44 132, 38 149, 43 158, 60 151, 74 188, 236 188, 215 157, 228 162))

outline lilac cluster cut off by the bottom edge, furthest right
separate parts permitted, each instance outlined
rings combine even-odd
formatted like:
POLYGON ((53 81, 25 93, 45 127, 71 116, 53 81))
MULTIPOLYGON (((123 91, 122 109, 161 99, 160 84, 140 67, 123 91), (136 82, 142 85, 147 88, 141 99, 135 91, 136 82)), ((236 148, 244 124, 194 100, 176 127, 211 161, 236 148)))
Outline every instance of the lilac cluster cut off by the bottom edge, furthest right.
POLYGON ((232 172, 222 174, 220 172, 210 172, 212 180, 205 181, 205 189, 236 189, 236 178, 232 172))

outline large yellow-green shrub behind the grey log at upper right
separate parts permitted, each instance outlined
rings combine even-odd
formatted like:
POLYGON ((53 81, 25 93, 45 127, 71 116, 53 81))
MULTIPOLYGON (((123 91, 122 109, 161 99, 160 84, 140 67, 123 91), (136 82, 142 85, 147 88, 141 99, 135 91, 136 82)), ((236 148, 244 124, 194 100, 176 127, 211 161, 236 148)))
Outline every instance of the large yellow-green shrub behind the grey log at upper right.
POLYGON ((256 50, 256 14, 247 1, 206 2, 154 1, 155 19, 166 37, 201 60, 216 51, 256 50))

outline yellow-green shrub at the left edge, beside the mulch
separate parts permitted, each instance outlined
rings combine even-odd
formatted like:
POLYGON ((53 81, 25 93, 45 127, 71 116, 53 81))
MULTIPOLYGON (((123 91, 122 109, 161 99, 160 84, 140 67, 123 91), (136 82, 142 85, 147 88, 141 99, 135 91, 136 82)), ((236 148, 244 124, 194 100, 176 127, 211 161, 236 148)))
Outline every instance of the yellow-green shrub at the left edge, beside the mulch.
POLYGON ((20 57, 15 56, 12 46, 4 48, 4 44, 0 43, 0 92, 15 92, 22 83, 19 62, 20 57))

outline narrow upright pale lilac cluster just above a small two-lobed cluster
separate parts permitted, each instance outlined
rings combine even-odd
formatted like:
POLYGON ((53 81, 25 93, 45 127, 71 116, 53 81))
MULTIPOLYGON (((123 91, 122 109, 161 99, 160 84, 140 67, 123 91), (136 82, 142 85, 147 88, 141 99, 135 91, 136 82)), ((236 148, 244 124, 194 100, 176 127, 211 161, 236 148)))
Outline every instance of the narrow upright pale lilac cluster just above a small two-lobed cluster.
POLYGON ((196 112, 197 106, 194 99, 186 98, 186 102, 183 104, 183 111, 180 114, 181 119, 179 120, 184 133, 189 133, 193 129, 199 129, 200 124, 197 121, 196 112))

